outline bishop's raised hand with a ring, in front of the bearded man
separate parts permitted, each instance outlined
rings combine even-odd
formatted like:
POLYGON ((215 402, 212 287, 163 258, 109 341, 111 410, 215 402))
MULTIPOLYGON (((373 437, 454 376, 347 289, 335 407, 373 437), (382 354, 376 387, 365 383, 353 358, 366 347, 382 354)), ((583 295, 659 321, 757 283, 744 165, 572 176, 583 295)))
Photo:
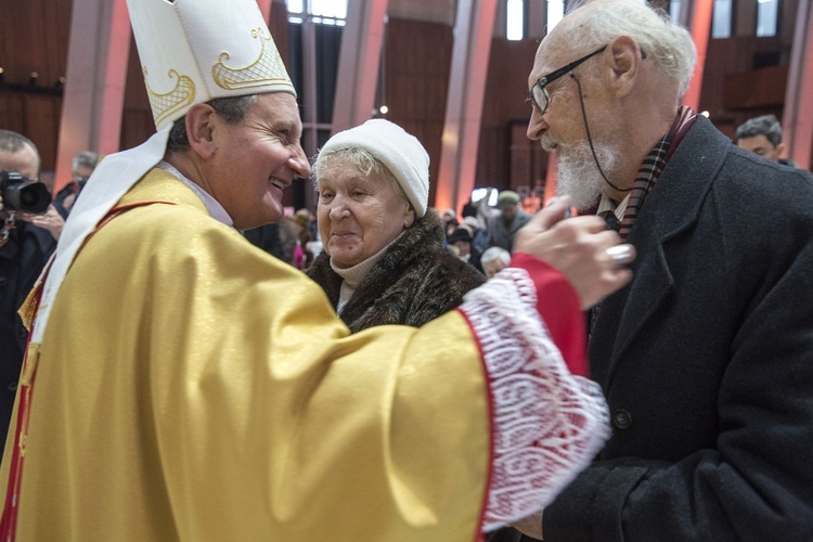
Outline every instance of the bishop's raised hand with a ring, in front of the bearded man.
POLYGON ((607 253, 618 245, 618 233, 605 230, 598 217, 565 220, 569 202, 568 197, 556 198, 538 212, 517 232, 514 251, 530 254, 558 269, 579 294, 582 309, 588 309, 630 282, 632 271, 623 264, 635 258, 635 249, 620 245, 628 247, 622 254, 607 253))

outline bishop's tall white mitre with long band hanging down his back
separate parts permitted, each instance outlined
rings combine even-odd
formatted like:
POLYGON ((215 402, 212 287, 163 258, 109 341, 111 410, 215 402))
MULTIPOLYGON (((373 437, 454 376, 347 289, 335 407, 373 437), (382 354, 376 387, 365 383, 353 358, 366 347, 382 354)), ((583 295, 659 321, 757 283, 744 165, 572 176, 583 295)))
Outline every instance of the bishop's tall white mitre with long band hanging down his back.
POLYGON ((31 341, 85 238, 165 154, 176 120, 195 104, 263 92, 296 95, 256 0, 127 0, 157 132, 105 157, 70 211, 47 274, 31 341))

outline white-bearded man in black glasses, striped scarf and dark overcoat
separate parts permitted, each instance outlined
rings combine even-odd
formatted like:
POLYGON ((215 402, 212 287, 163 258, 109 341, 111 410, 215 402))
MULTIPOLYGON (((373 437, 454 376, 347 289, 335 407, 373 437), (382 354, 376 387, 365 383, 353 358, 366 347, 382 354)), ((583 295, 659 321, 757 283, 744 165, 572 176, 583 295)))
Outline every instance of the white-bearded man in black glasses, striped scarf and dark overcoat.
POLYGON ((633 0, 575 10, 537 52, 528 136, 638 257, 590 337, 612 437, 518 525, 535 538, 813 539, 813 183, 680 107, 695 56, 633 0))

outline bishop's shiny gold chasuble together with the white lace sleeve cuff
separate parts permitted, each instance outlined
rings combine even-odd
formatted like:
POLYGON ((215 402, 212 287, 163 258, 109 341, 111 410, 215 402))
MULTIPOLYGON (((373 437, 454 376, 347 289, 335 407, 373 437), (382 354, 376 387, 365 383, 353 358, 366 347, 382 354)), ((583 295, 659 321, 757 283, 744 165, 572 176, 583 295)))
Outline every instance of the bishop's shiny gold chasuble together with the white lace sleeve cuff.
POLYGON ((514 295, 539 335, 527 278, 349 335, 169 173, 119 206, 140 203, 79 251, 26 361, 27 430, 15 412, 0 472, 23 460, 3 491, 18 540, 472 541, 550 502, 606 437, 546 335, 501 338, 525 324, 489 314, 483 295, 514 295))

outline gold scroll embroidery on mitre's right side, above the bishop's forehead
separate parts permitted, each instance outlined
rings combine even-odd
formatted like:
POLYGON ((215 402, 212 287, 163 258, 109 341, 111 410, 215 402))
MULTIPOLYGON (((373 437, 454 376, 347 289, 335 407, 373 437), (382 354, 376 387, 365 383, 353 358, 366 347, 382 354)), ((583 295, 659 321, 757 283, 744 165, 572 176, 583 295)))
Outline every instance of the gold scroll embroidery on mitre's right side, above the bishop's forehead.
POLYGON ((220 53, 220 62, 211 67, 211 77, 215 82, 227 90, 281 82, 292 85, 271 36, 267 36, 262 28, 257 28, 251 30, 251 37, 260 40, 262 50, 259 57, 247 66, 230 67, 224 64, 224 61, 231 59, 229 53, 220 53))

